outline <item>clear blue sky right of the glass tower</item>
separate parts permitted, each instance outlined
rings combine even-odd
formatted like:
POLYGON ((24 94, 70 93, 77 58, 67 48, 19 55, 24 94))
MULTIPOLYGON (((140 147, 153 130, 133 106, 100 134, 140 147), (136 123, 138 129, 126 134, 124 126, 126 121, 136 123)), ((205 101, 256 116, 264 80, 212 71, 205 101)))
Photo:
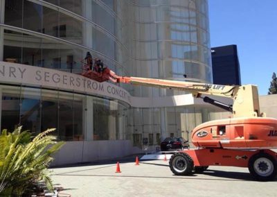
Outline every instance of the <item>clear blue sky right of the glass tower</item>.
POLYGON ((242 84, 265 95, 277 73, 277 0, 208 0, 211 47, 236 44, 242 84))

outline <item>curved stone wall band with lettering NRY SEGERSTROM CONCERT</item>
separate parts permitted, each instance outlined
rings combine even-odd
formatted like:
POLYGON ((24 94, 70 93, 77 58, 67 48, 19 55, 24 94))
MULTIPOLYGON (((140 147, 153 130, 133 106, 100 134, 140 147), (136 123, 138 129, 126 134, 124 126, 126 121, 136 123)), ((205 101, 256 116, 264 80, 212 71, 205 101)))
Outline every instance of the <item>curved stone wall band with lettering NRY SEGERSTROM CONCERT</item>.
POLYGON ((41 85, 42 87, 67 89, 80 93, 99 94, 130 104, 130 95, 123 88, 110 83, 98 83, 78 74, 54 69, 0 62, 0 82, 41 85))

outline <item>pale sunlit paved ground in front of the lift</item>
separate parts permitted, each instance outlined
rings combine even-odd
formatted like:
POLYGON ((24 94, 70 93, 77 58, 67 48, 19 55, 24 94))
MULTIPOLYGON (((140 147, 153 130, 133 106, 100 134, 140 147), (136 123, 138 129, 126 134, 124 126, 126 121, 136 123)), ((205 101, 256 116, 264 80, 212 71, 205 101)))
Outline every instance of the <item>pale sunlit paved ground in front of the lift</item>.
POLYGON ((277 196, 276 182, 256 182, 248 169, 210 166, 191 176, 173 175, 168 161, 134 160, 56 168, 53 182, 71 196, 277 196))

